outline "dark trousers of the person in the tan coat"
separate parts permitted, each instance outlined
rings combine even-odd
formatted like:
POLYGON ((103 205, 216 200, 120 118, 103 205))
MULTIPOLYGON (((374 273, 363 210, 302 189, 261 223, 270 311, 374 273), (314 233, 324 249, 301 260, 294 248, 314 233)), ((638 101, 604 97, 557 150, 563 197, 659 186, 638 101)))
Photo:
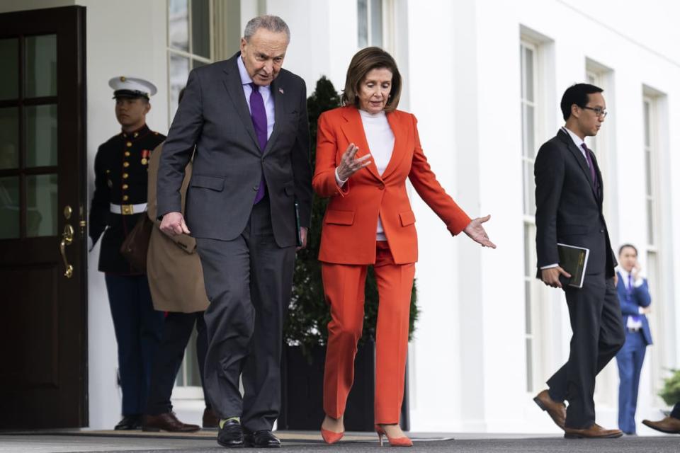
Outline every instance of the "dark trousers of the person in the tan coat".
POLYGON ((163 338, 156 356, 151 372, 151 386, 149 387, 149 399, 147 410, 149 415, 159 415, 172 411, 172 388, 179 367, 182 365, 186 344, 193 332, 196 324, 198 337, 196 338, 196 357, 198 358, 198 372, 200 373, 200 383, 203 386, 203 397, 205 407, 210 408, 210 402, 205 395, 205 383, 203 379, 203 365, 205 364, 205 352, 208 349, 208 336, 205 333, 205 321, 203 321, 203 311, 196 313, 174 313, 169 312, 165 318, 163 338))

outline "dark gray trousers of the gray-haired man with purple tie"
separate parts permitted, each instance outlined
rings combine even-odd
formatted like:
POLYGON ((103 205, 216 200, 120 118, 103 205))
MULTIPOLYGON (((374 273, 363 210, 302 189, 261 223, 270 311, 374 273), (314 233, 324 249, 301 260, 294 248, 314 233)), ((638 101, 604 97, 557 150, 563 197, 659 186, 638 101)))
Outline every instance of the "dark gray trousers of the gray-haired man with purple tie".
POLYGON ((280 411, 283 319, 295 247, 276 245, 267 195, 237 239, 196 243, 210 300, 205 391, 220 418, 240 416, 246 430, 271 430, 280 411))

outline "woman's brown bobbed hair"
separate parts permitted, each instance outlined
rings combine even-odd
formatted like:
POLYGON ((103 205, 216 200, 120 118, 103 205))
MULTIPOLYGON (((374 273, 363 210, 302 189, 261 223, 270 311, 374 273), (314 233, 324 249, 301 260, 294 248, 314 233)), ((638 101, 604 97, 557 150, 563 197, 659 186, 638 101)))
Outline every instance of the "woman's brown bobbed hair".
POLYGON ((385 112, 392 112, 399 105, 399 97, 402 96, 402 76, 397 69, 397 62, 392 55, 380 49, 380 47, 366 47, 359 50, 352 57, 352 61, 347 68, 345 78, 345 89, 342 91, 342 105, 359 104, 359 86, 363 79, 373 69, 387 69, 392 72, 392 89, 390 89, 390 99, 385 104, 385 112))

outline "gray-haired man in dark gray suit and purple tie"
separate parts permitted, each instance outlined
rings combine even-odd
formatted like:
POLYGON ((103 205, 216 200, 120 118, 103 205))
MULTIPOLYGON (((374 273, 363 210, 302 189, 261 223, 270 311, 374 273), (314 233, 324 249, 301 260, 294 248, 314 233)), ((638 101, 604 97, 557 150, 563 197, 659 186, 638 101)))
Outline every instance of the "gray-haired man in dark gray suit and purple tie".
POLYGON ((280 447, 283 319, 312 201, 307 92, 281 69, 288 42, 281 18, 256 17, 234 57, 191 71, 158 174, 161 229, 191 230, 203 266, 205 390, 224 447, 280 447), (192 154, 185 223, 179 188, 192 154))

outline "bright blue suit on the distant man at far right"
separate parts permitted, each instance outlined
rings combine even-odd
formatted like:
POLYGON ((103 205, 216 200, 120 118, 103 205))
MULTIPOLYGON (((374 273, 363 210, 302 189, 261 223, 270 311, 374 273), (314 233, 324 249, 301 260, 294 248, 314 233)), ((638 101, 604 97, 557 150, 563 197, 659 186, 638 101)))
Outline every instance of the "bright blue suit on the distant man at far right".
POLYGON ((618 299, 621 302, 623 325, 626 326, 625 344, 616 354, 618 364, 618 428, 626 434, 635 433, 635 409, 638 406, 640 372, 647 346, 652 344, 652 333, 647 316, 640 308, 652 303, 647 280, 642 285, 632 282, 628 273, 618 272, 618 299), (625 275, 623 275, 625 274, 625 275))

